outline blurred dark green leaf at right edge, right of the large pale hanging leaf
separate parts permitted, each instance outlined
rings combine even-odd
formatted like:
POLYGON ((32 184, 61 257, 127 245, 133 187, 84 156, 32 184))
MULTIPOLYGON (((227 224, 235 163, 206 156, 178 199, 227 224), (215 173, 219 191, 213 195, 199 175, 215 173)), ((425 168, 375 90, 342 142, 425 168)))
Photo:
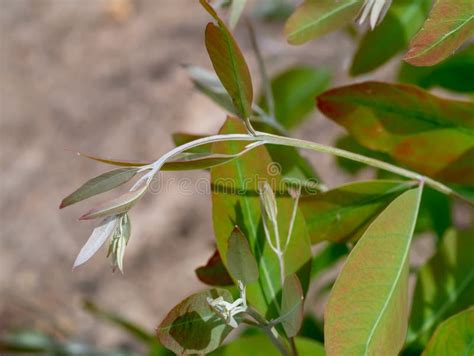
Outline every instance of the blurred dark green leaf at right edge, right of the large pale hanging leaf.
POLYGON ((472 304, 474 230, 450 230, 436 254, 419 270, 407 335, 409 349, 421 351, 436 325, 472 304))

